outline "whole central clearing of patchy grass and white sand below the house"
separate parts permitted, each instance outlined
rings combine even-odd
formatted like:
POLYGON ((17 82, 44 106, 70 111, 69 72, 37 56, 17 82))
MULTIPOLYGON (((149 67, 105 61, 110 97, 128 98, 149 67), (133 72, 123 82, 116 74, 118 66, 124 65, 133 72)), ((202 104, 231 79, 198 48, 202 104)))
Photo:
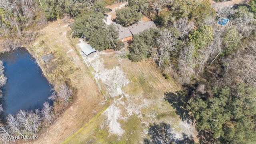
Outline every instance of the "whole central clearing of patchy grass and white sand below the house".
POLYGON ((110 107, 64 143, 142 143, 147 138, 149 126, 160 122, 170 124, 176 138, 182 138, 185 133, 196 140, 194 126, 183 122, 164 100, 165 93, 175 93, 180 86, 172 79, 164 79, 154 62, 131 62, 113 51, 98 52, 84 60, 95 69, 92 74, 96 80, 102 79, 106 92, 114 100, 110 107), (116 87, 110 87, 113 84, 116 87), (123 85, 121 92, 120 84, 123 85), (118 92, 113 93, 114 89, 118 92))

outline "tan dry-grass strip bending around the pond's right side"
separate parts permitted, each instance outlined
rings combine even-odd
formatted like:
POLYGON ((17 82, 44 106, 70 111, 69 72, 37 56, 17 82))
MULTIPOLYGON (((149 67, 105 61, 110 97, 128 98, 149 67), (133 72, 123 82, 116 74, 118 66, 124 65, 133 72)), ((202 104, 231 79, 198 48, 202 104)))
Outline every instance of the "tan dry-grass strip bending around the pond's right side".
POLYGON ((53 53, 54 62, 57 64, 65 62, 52 70, 53 72, 48 74, 48 79, 56 85, 60 79, 69 78, 72 86, 78 91, 70 108, 56 119, 54 124, 44 129, 38 140, 30 144, 60 144, 104 107, 101 105, 103 97, 98 86, 88 74, 88 68, 67 36, 68 31, 70 27, 67 24, 63 24, 60 20, 53 22, 40 30, 41 35, 31 48, 44 73, 47 73, 46 67, 49 67, 49 64, 44 64, 40 60, 42 54, 53 53), (59 77, 56 77, 57 74, 59 77))

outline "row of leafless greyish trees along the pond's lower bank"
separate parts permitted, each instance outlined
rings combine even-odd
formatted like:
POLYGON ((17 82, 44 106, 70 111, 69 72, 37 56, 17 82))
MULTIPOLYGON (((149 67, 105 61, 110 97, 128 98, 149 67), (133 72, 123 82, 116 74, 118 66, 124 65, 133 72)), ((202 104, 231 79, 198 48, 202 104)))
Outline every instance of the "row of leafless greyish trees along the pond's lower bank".
MULTIPOLYGON (((49 102, 44 102, 41 109, 36 110, 19 110, 14 116, 8 114, 6 122, 0 123, 0 135, 2 136, 1 142, 8 143, 15 142, 17 139, 12 136, 32 137, 36 136, 38 132, 45 128, 47 125, 54 122, 57 114, 60 114, 55 107, 66 106, 74 96, 74 91, 66 83, 60 84, 56 92, 49 96, 49 100, 54 101, 54 106, 49 102), (6 138, 6 139, 5 139, 6 138)), ((0 110, 3 112, 2 105, 0 110)))

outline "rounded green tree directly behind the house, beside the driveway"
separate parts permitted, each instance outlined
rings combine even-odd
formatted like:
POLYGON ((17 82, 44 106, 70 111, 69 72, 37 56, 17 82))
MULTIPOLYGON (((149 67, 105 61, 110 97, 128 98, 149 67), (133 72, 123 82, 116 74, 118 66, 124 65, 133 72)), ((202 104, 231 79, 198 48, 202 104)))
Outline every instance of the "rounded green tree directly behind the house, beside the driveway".
POLYGON ((135 22, 138 22, 141 19, 142 14, 138 12, 138 6, 128 6, 121 10, 116 10, 116 16, 116 22, 118 24, 127 26, 129 24, 134 24, 135 22))

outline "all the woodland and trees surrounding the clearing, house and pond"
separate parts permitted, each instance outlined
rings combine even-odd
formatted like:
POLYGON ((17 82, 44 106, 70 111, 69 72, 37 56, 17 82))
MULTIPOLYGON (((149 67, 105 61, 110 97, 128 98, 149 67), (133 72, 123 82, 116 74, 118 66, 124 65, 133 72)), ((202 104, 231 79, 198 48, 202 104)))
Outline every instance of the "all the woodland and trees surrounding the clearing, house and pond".
MULTIPOLYGON (((106 5, 116 1, 0 0, 0 46, 8 51, 31 42, 34 30, 68 14, 75 20, 74 37, 84 37, 99 51, 122 50, 125 45, 117 40, 116 26, 102 21, 109 11, 106 5)), ((182 92, 177 92, 183 98, 179 115, 196 124, 200 143, 254 143, 256 0, 232 8, 212 8, 206 0, 128 0, 114 21, 130 26, 143 15, 158 28, 135 35, 124 57, 133 62, 153 60, 166 79, 182 84, 182 92), (224 26, 217 23, 222 18, 228 19, 224 26)), ((2 69, 0 86, 6 81, 2 69)), ((72 90, 63 84, 50 99, 68 103, 71 97, 72 90)), ((35 135, 41 120, 51 123, 53 117, 48 103, 36 113, 21 110, 7 117, 0 133, 35 135)))

